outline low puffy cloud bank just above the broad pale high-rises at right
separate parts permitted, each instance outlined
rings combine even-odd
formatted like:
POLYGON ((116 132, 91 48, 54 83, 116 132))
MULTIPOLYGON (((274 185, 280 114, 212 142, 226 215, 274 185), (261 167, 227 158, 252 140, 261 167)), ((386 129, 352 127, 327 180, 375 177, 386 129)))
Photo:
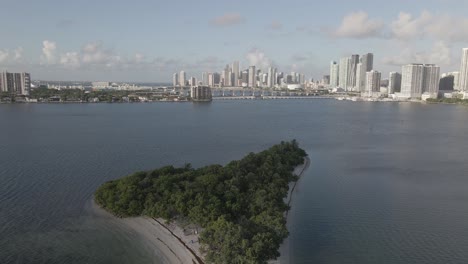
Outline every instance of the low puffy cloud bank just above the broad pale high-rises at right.
POLYGON ((434 63, 448 66, 453 63, 453 60, 450 46, 444 41, 437 41, 430 51, 416 51, 414 48, 408 47, 403 49, 398 55, 384 57, 382 62, 393 66, 408 63, 434 63))

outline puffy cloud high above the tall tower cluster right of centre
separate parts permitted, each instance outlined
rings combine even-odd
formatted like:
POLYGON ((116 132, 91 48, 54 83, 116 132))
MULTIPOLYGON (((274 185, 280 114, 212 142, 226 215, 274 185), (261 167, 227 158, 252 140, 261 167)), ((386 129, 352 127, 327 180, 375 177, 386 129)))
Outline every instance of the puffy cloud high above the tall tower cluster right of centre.
POLYGON ((339 38, 369 38, 382 35, 385 24, 381 20, 370 19, 366 12, 353 12, 346 15, 332 36, 339 38))

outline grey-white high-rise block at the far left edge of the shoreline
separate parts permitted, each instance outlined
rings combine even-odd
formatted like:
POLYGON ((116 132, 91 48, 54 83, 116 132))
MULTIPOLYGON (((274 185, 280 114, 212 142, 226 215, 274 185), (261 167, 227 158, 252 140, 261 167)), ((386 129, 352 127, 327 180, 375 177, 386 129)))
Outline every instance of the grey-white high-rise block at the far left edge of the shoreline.
POLYGON ((14 94, 29 95, 31 90, 31 75, 29 73, 0 73, 0 91, 14 94))

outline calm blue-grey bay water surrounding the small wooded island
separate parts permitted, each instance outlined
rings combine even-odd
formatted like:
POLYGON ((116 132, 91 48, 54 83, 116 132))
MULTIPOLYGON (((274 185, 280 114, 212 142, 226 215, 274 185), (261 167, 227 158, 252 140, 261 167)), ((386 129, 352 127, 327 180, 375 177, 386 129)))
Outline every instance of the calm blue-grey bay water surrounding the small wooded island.
POLYGON ((160 263, 90 210, 101 183, 293 138, 287 261, 468 262, 468 108, 284 100, 0 105, 0 263, 160 263))

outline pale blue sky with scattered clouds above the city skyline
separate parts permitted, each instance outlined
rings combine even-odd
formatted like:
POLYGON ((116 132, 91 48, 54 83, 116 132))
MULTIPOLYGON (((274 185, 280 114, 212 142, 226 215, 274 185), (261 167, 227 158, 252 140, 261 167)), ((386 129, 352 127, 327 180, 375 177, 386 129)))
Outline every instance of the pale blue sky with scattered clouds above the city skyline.
POLYGON ((0 71, 36 80, 171 82, 238 60, 320 79, 330 61, 374 53, 458 71, 465 0, 0 0, 0 71))

